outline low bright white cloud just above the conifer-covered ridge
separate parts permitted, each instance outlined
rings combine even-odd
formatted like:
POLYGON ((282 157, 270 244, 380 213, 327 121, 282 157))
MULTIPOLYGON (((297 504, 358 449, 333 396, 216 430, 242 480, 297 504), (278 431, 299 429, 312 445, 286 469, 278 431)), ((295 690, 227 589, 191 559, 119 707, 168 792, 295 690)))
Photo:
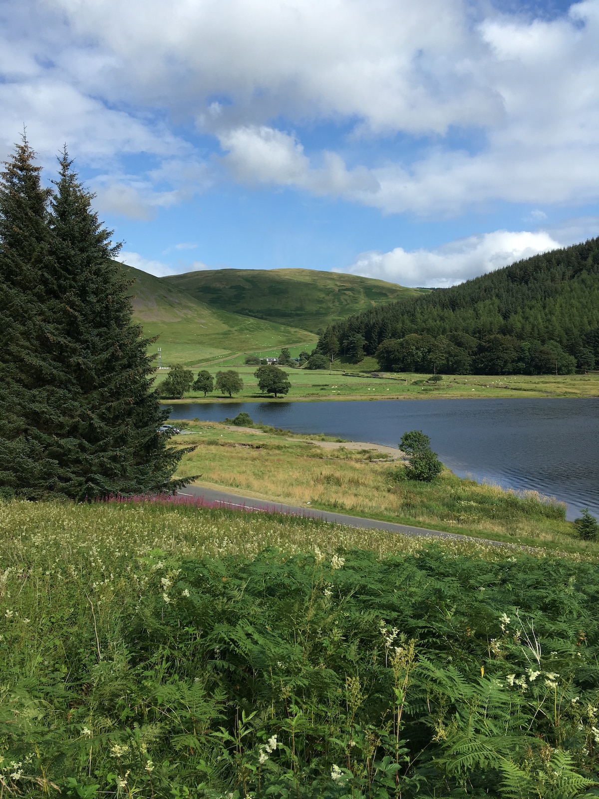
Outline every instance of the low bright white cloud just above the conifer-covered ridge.
POLYGON ((428 250, 408 252, 396 247, 391 252, 363 252, 355 264, 335 272, 375 277, 404 286, 445 288, 558 247, 561 244, 549 233, 496 230, 428 250))

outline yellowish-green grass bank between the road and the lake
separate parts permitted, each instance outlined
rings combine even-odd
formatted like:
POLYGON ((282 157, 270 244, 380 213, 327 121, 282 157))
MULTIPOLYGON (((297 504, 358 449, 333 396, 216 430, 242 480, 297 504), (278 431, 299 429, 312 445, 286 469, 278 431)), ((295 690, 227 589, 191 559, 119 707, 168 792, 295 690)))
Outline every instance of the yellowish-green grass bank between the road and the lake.
POLYGON ((419 483, 404 479, 402 467, 375 448, 324 449, 310 443, 314 436, 273 428, 238 430, 196 422, 188 430, 192 433, 177 443, 195 444, 196 450, 184 455, 180 477, 200 475, 200 483, 304 507, 599 554, 599 544, 574 535, 563 503, 536 491, 505 491, 460 479, 448 469, 433 483, 419 483))

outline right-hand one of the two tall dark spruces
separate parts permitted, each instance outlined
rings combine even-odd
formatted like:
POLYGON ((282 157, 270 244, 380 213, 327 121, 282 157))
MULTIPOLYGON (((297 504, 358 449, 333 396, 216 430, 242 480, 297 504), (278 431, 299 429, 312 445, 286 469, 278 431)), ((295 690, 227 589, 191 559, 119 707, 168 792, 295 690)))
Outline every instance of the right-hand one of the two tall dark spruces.
POLYGON ((77 384, 79 412, 61 441, 61 491, 76 499, 168 491, 186 450, 167 447, 158 427, 168 417, 152 388, 154 339, 132 323, 130 288, 113 260, 121 248, 93 212, 93 195, 60 158, 51 203, 52 246, 65 298, 65 368, 77 384))

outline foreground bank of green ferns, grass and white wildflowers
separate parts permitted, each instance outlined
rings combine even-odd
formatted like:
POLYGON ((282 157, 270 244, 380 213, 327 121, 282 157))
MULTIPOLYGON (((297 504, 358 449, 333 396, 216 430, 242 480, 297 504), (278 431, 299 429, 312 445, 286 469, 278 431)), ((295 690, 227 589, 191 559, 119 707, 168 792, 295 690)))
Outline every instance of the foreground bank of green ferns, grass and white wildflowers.
POLYGON ((596 795, 599 566, 160 503, 0 505, 0 791, 596 795))

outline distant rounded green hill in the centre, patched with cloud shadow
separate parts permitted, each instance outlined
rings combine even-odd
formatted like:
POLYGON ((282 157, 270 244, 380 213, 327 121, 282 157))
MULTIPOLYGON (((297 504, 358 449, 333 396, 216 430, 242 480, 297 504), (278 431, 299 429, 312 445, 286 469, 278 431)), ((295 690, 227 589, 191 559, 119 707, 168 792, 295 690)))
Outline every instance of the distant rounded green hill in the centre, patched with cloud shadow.
POLYGON ((211 308, 312 332, 375 305, 428 291, 314 269, 214 269, 161 281, 211 308))

